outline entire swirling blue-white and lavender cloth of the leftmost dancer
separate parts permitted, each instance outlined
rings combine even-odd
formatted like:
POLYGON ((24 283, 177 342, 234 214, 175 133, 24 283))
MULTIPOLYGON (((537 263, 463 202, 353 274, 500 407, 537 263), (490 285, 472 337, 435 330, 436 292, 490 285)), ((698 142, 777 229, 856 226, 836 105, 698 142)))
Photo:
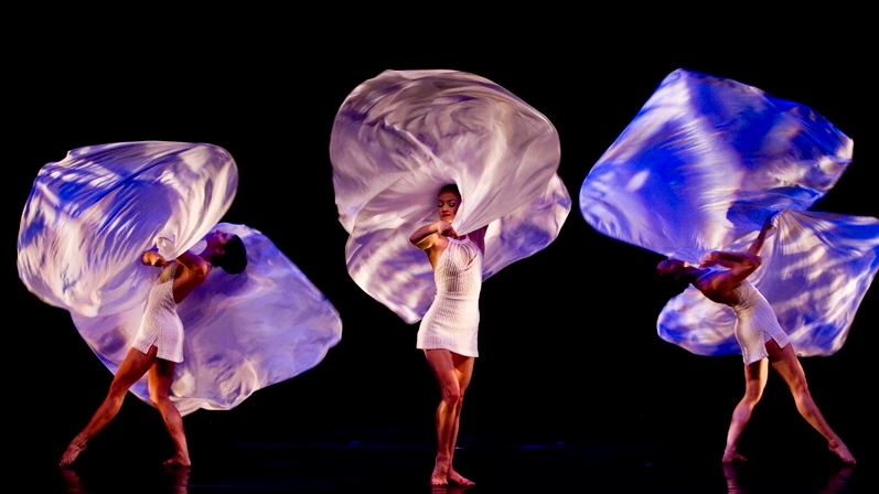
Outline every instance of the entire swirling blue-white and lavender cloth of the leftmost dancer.
MULTIPOLYGON (((178 307, 184 331, 171 398, 186 415, 229 409, 254 391, 315 366, 341 340, 330 301, 260 232, 217 224, 237 186, 232 157, 216 146, 125 142, 69 151, 41 169, 22 214, 19 276, 71 312, 98 358, 116 373, 137 334, 159 273, 140 255, 201 251, 205 234, 237 234, 244 272, 213 269, 178 307)), ((131 387, 149 404, 147 377, 131 387)))

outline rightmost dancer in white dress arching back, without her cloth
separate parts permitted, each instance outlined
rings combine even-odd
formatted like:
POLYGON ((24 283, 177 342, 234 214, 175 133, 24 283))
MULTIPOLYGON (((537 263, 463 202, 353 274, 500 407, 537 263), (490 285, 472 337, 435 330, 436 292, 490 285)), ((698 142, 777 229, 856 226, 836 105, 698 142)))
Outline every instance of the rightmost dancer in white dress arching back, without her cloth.
POLYGON ((715 250, 706 254, 699 265, 667 258, 661 261, 657 273, 663 280, 693 284, 706 298, 729 305, 736 313, 735 336, 744 361, 744 396, 732 411, 723 450, 723 463, 747 461, 738 444, 751 414, 767 385, 768 365, 787 384, 796 409, 808 423, 827 440, 829 450, 847 464, 855 457, 830 429, 812 398, 803 367, 787 334, 763 294, 748 280, 761 265, 759 256, 768 233, 774 228, 774 215, 769 216, 754 241, 744 253, 715 250))

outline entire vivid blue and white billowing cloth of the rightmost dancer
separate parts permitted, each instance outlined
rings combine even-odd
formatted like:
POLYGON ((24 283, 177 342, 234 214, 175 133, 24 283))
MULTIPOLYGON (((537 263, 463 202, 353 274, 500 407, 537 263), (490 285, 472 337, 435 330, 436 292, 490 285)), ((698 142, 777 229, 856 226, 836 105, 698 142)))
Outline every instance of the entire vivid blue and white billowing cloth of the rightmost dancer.
MULTIPOLYGON (((775 213, 749 279, 800 355, 830 355, 879 270, 879 219, 807 211, 851 162, 854 142, 811 108, 744 84, 677 69, 602 154, 580 189, 601 234, 698 262, 744 250, 775 213)), ((699 355, 739 353, 731 309, 694 287, 660 336, 699 355)))

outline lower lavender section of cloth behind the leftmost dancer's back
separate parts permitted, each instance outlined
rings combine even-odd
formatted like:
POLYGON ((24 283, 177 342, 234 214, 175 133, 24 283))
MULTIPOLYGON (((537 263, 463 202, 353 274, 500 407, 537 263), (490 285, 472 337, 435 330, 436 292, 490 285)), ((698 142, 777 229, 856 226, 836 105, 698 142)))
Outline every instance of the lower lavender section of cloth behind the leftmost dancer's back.
MULTIPOLYGON (((178 305, 185 339, 171 399, 182 415, 234 408, 254 391, 314 367, 342 337, 336 310, 268 237, 245 225, 214 228, 242 237, 247 268, 238 275, 212 269, 178 305)), ((201 251, 203 244, 192 250, 201 251)), ((105 316, 73 314, 79 334, 114 373, 143 314, 146 294, 138 300, 105 316)), ((149 400, 146 376, 131 393, 149 400)))

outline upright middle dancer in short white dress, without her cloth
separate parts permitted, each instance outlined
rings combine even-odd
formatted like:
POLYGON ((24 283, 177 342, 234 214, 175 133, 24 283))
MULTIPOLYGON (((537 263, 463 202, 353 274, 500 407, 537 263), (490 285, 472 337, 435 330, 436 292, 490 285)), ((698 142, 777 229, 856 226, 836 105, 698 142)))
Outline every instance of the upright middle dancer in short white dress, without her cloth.
POLYGON ((438 194, 439 221, 409 237, 427 254, 437 284, 436 298, 421 320, 416 341, 416 347, 425 351, 442 394, 437 408, 437 458, 431 485, 475 484, 454 470, 452 460, 464 393, 479 356, 479 294, 486 227, 458 235, 452 221, 460 206, 458 186, 443 185, 438 194))

